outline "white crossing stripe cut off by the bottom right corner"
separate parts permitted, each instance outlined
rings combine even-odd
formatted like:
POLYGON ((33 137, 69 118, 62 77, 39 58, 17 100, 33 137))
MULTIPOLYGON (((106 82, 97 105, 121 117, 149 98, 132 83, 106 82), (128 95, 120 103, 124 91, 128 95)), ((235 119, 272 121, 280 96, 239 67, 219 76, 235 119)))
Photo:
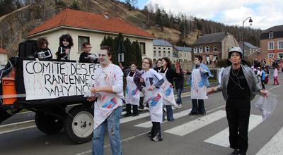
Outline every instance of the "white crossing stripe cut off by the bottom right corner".
POLYGON ((283 154, 283 128, 281 128, 273 137, 272 139, 265 144, 264 147, 258 151, 255 155, 277 155, 283 154))

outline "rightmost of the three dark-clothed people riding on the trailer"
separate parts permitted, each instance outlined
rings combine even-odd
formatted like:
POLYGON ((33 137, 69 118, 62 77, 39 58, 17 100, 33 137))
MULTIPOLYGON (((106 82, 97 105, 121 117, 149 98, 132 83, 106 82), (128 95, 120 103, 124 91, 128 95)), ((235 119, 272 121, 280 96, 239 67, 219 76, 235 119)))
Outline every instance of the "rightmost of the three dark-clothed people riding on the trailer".
POLYGON ((98 63, 96 54, 91 54, 91 43, 83 43, 83 53, 81 53, 79 62, 80 63, 98 63))

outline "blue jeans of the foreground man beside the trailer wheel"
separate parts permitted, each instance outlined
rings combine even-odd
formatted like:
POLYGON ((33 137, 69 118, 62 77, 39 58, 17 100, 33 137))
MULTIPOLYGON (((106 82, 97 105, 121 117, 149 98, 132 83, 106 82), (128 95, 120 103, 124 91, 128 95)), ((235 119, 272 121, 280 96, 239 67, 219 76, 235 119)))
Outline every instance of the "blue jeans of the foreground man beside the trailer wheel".
POLYGON ((104 149, 104 134, 105 129, 108 128, 108 135, 110 139, 110 146, 113 155, 121 155, 122 147, 120 142, 120 133, 119 133, 119 123, 120 116, 122 113, 122 106, 118 106, 110 116, 103 123, 101 123, 98 128, 93 130, 93 155, 103 155, 104 149))

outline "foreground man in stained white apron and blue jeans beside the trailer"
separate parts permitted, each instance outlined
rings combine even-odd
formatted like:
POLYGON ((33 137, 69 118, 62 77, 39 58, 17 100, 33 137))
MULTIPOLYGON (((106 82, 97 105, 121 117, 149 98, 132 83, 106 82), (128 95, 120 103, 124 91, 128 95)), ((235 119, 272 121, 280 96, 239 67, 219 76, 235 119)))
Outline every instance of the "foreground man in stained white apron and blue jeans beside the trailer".
POLYGON ((108 129, 112 154, 121 155, 119 123, 122 112, 123 72, 119 66, 111 63, 112 54, 109 46, 102 46, 98 51, 101 68, 93 75, 93 87, 88 101, 94 103, 94 130, 92 154, 103 154, 105 130, 108 129))

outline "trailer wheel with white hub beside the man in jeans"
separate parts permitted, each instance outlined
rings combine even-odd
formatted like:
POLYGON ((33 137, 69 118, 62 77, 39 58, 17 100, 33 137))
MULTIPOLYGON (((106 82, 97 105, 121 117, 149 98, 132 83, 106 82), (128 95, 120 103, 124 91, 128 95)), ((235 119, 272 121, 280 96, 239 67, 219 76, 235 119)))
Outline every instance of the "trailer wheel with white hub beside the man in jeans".
POLYGON ((76 144, 91 141, 93 137, 93 109, 88 106, 75 106, 64 120, 64 130, 76 144))

